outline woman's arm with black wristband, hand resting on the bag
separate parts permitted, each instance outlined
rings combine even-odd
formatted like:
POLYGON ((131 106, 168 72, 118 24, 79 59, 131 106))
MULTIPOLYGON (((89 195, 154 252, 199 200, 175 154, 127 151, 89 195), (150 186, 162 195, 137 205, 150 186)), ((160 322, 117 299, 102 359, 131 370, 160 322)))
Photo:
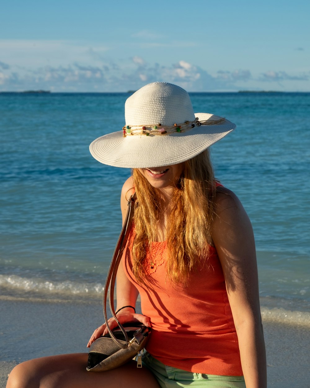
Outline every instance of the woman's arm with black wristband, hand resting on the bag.
MULTIPOLYGON (((133 180, 132 180, 132 177, 130 177, 124 183, 122 188, 122 193, 121 193, 121 210, 122 210, 123 223, 127 214, 128 199, 132 194, 134 194, 134 190, 132 188, 133 188, 133 180)), ((136 287, 127 278, 124 272, 122 261, 117 270, 116 286, 117 286, 116 287, 116 295, 117 295, 116 311, 119 310, 119 308, 124 306, 136 307, 136 300, 139 293, 136 287)), ((137 322, 143 323, 145 326, 151 327, 150 319, 145 315, 135 314, 133 308, 131 307, 122 308, 122 310, 117 314, 117 319, 121 323, 137 321, 137 322)), ((108 320, 108 324, 111 329, 117 326, 117 323, 114 318, 110 318, 108 320)), ((104 323, 94 331, 90 340, 88 341, 87 346, 90 347, 93 341, 95 341, 97 338, 107 333, 108 333, 107 325, 104 323)))

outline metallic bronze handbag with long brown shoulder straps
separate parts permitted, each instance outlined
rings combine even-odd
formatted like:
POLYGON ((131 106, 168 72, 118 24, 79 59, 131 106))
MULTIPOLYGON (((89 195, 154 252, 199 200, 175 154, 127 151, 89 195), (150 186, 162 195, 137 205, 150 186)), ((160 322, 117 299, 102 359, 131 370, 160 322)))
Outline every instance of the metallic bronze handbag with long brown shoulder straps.
POLYGON ((137 322, 127 322, 122 325, 117 319, 114 310, 116 273, 129 236, 134 213, 134 201, 135 195, 131 196, 128 201, 126 219, 115 247, 103 293, 103 315, 105 317, 105 322, 108 321, 106 304, 109 290, 110 310, 118 327, 111 330, 107 325, 109 333, 97 338, 97 340, 91 344, 88 353, 88 365, 86 368, 89 372, 102 372, 117 368, 126 364, 126 362, 129 362, 136 355, 138 355, 137 367, 142 367, 140 352, 143 350, 151 330, 149 327, 137 322))

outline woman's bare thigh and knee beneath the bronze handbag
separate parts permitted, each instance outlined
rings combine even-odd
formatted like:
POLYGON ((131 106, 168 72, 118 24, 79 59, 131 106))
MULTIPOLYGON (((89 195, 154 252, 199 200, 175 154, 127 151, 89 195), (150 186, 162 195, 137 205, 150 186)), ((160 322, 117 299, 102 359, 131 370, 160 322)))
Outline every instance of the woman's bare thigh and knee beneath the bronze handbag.
POLYGON ((106 372, 87 372, 87 353, 63 354, 29 360, 9 375, 7 388, 158 388, 152 372, 132 361, 106 372))

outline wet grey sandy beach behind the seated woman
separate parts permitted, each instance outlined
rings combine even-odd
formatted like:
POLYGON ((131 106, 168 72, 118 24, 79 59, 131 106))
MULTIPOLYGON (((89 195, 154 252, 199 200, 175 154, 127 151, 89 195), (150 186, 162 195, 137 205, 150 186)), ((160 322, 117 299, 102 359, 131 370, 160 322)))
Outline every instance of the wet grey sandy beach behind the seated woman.
MULTIPOLYGON (((289 312, 281 311, 274 320, 269 311, 262 308, 268 387, 309 388, 308 313, 296 325, 291 323, 289 312)), ((45 355, 87 352, 88 338, 103 319, 100 300, 55 303, 5 299, 0 300, 0 315, 0 388, 5 387, 7 374, 19 362, 45 355)))

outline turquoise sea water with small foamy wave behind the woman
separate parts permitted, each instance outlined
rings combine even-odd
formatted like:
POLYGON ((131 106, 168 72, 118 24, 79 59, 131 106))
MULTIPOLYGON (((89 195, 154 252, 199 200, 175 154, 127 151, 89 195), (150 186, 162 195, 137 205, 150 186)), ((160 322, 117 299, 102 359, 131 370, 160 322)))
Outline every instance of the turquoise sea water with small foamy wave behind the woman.
MULTIPOLYGON (((0 94, 2 295, 102 293, 130 170, 101 165, 88 145, 121 130, 128 96, 0 94)), ((237 124, 212 159, 253 224, 262 300, 310 310, 310 94, 191 99, 237 124)))

